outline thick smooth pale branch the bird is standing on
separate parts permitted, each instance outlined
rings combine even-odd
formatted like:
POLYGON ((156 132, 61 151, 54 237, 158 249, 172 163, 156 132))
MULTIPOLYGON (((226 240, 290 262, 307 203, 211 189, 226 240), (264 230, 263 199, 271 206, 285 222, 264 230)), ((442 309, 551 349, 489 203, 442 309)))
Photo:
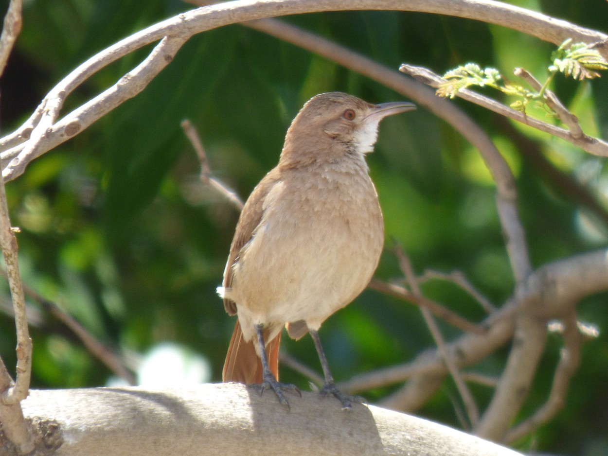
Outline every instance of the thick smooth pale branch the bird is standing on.
POLYGON ((58 455, 518 455, 403 413, 302 396, 288 410, 242 384, 34 390, 23 408, 61 424, 58 455))

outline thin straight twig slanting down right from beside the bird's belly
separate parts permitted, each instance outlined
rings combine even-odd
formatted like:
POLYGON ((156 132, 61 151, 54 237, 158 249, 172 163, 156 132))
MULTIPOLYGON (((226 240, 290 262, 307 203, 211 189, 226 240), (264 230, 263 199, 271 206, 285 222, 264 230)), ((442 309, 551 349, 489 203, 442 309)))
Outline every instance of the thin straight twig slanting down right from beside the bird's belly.
MULTIPOLYGON (((395 254, 397 255, 397 260, 399 261, 399 266, 401 271, 407 278, 407 282, 410 284, 410 288, 412 288, 412 292, 415 295, 422 296, 422 291, 420 289, 420 285, 416 282, 416 275, 413 272, 412 263, 410 259, 407 257, 406 252, 402 249, 399 244, 395 244, 395 254)), ((441 357, 443 361, 446 363, 447 370, 449 370, 452 378, 454 378, 454 382, 460 393, 460 397, 462 398, 463 403, 465 404, 466 412, 469 418, 469 423, 471 426, 477 426, 479 421, 479 410, 477 408, 477 404, 475 404, 475 399, 469 391, 468 386, 460 375, 460 371, 458 370, 457 362, 454 360, 454 355, 447 350, 446 343, 443 340, 443 336, 441 336, 441 331, 435 323, 435 320, 432 316, 432 313, 425 306, 421 306, 420 311, 423 314, 424 321, 429 327, 430 334, 433 336, 435 340, 435 344, 437 345, 438 351, 441 353, 441 357)))

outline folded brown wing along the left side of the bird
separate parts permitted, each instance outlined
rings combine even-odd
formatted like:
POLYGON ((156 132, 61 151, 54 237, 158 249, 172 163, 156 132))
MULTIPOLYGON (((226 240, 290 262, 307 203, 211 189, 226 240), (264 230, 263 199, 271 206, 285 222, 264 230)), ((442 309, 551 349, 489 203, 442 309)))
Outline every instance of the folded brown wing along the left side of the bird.
MULTIPOLYGON (((228 255, 228 261, 226 262, 226 269, 224 270, 224 289, 229 289, 232 286, 232 275, 235 263, 237 263, 241 249, 251 240, 255 229, 260 224, 262 216, 264 215, 264 200, 268 193, 272 190, 277 182, 280 182, 280 172, 277 168, 269 171, 266 176, 260 181, 260 183, 251 192, 247 202, 243 207, 240 217, 238 218, 237 229, 232 239, 232 245, 230 246, 230 254, 228 255)), ((231 300, 224 298, 224 308, 230 315, 237 313, 237 305, 231 300)))

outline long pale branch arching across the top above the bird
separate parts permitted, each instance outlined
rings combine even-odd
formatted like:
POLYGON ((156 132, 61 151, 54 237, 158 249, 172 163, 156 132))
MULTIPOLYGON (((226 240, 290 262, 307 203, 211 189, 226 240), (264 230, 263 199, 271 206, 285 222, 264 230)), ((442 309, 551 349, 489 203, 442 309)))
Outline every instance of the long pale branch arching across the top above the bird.
MULTIPOLYGON (((5 151, 12 147, 10 153, 2 154, 1 158, 5 161, 21 152, 22 147, 18 147, 16 144, 26 141, 38 126, 40 128, 36 131, 35 137, 32 138, 33 143, 27 145, 28 156, 38 156, 50 150, 50 148, 78 133, 78 131, 74 131, 78 126, 86 128, 94 120, 97 120, 100 116, 94 117, 88 124, 77 123, 73 126, 73 129, 67 128, 67 131, 67 125, 63 125, 63 128, 57 128, 57 125, 55 125, 52 131, 48 131, 47 128, 57 120, 61 106, 63 106, 63 102, 70 92, 86 78, 109 63, 133 52, 133 50, 161 40, 165 36, 182 36, 184 40, 187 40, 195 33, 251 19, 339 10, 400 10, 452 15, 510 27, 556 44, 561 43, 566 38, 575 38, 577 41, 587 43, 608 40, 607 35, 595 30, 584 29, 567 21, 550 18, 541 13, 491 0, 266 0, 264 2, 240 0, 225 2, 182 13, 154 24, 89 58, 49 92, 49 95, 24 125, 0 140, 0 150, 5 151), (49 141, 42 147, 40 143, 44 142, 43 137, 48 140, 48 136, 60 136, 60 138, 49 141)), ((598 46, 600 52, 608 52, 604 48, 604 46, 598 46)), ((125 99, 123 98, 122 101, 125 99)), ((109 109, 113 109, 113 107, 109 109)), ((25 165, 27 163, 18 164, 15 171, 9 170, 5 174, 15 178, 22 172, 25 165)))

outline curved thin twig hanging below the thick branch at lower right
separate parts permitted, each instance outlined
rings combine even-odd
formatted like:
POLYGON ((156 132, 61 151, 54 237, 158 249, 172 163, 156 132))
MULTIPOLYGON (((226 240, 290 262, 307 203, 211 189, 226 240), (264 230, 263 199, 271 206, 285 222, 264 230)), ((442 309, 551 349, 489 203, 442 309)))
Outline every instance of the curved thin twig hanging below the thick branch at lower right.
POLYGON ((581 340, 582 335, 573 312, 564 319, 564 348, 561 350, 558 367, 553 375, 553 384, 547 402, 534 415, 511 429, 505 436, 506 443, 530 434, 551 420, 564 407, 570 378, 581 361, 581 340))

